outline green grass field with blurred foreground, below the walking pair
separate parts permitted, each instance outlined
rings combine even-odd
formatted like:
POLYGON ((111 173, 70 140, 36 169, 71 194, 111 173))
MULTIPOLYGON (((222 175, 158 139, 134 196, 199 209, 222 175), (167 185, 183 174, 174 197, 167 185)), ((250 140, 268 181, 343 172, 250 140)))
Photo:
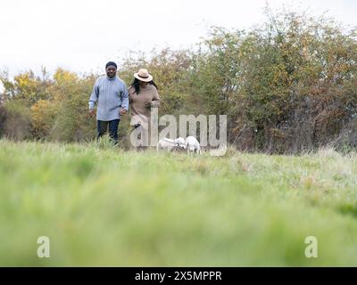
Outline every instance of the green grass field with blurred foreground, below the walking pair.
POLYGON ((355 266, 356 162, 1 140, 0 265, 355 266))

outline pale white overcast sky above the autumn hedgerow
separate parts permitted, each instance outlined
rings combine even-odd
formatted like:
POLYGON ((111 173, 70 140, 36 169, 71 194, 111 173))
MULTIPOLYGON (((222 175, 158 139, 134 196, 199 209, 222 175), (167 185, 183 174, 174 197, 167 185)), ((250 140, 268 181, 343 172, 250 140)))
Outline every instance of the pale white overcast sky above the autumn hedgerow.
MULTIPOLYGON (((186 48, 211 25, 249 28, 265 0, 0 0, 0 69, 10 74, 45 66, 100 71, 106 61, 154 47, 186 48)), ((356 26, 356 0, 269 0, 356 26)))

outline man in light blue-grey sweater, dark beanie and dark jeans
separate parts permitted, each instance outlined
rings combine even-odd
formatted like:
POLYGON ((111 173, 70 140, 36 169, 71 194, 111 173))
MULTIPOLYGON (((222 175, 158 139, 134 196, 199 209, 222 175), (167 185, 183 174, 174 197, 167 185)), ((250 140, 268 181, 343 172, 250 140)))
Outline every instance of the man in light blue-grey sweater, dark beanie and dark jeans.
POLYGON ((89 113, 95 114, 97 102, 97 139, 105 134, 109 126, 109 134, 115 144, 118 143, 118 125, 120 116, 129 110, 129 93, 125 83, 116 76, 117 65, 109 61, 105 65, 106 76, 95 80, 92 94, 89 98, 89 113))

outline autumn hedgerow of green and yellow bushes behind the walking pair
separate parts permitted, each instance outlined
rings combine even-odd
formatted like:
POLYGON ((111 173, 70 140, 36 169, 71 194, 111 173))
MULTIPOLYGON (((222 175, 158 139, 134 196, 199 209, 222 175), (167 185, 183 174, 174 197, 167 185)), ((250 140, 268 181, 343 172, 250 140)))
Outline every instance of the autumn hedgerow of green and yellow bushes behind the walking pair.
MULTIPOLYGON (((119 76, 130 85, 145 67, 162 98, 160 114, 228 115, 228 142, 243 151, 299 153, 357 146, 357 31, 324 16, 266 11, 261 25, 212 27, 190 50, 129 56, 119 76)), ((95 137, 87 101, 95 77, 57 69, 0 80, 0 135, 83 142, 95 137)), ((199 127, 199 126, 197 126, 199 127)), ((129 118, 120 136, 129 132, 129 118)))

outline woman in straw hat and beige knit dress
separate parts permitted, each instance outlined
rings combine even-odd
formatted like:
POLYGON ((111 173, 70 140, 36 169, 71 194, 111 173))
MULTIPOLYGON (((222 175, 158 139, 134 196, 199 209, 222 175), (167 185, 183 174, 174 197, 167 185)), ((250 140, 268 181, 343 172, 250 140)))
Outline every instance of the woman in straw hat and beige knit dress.
POLYGON ((147 69, 140 69, 134 73, 134 81, 129 86, 129 103, 130 125, 135 128, 142 126, 148 132, 151 108, 160 106, 160 97, 153 76, 147 69))

